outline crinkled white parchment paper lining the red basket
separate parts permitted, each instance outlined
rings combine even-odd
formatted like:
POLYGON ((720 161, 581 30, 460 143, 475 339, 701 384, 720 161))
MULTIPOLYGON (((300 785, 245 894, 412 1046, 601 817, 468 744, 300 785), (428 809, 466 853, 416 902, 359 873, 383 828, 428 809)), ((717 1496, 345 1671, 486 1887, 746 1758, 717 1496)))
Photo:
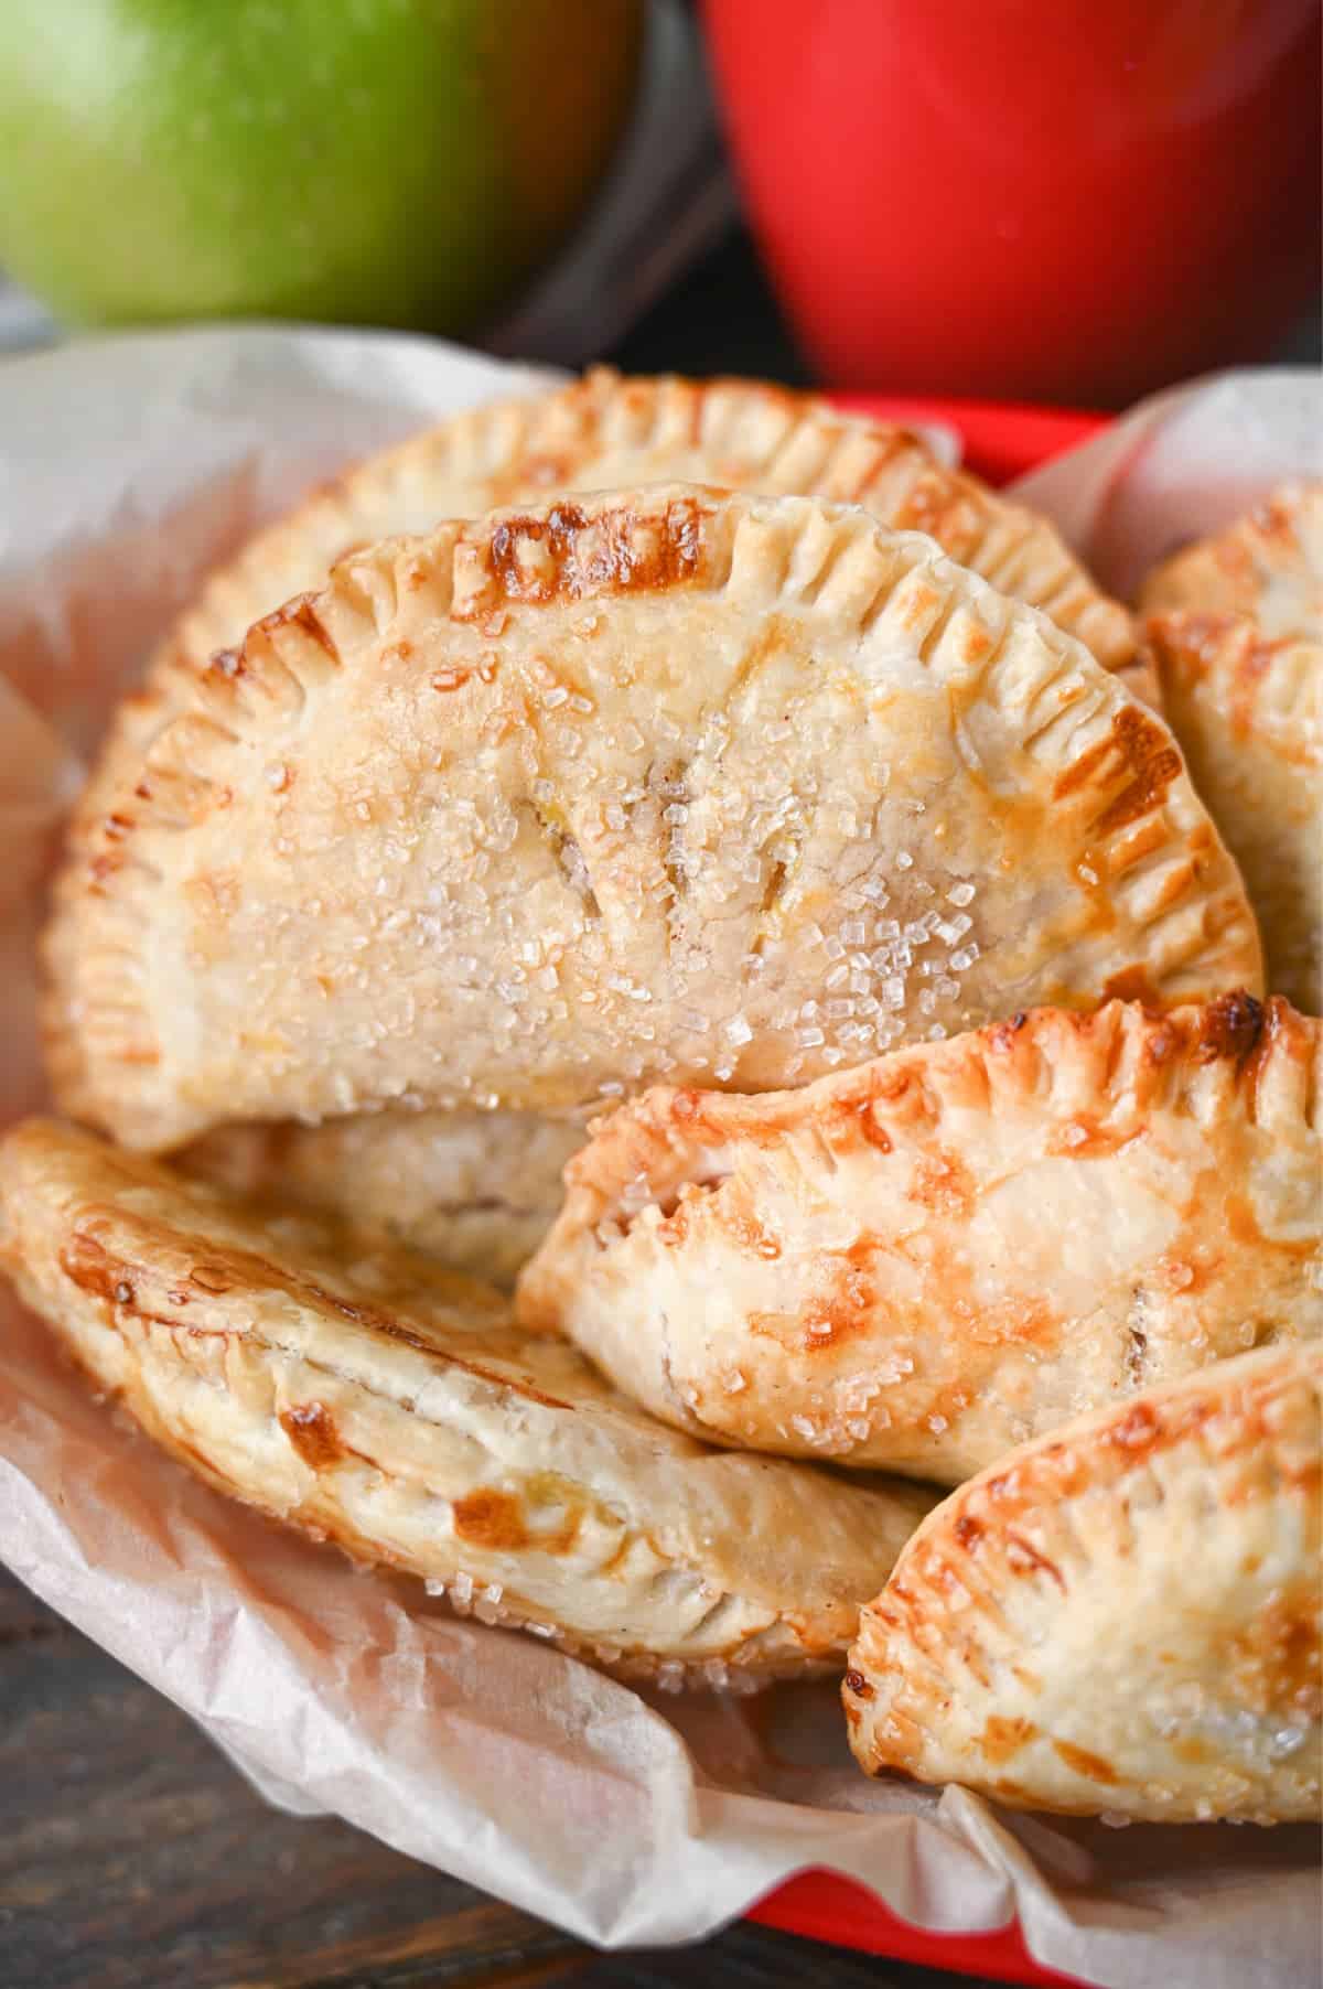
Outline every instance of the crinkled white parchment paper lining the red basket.
MULTIPOLYGON (((0 364, 0 1116, 40 1100, 32 935, 60 814, 147 642, 259 519, 430 414, 533 376, 410 338, 205 330, 0 364)), ((1104 571, 1319 467, 1319 380, 1233 376, 1035 479, 1104 571)), ((832 1866, 927 1927, 1019 1913, 1108 1989, 1319 1975, 1313 1830, 997 1814, 869 1782, 830 1687, 651 1699, 456 1621, 195 1484, 0 1301, 0 1557, 275 1802, 601 1943, 682 1941, 832 1866)), ((1126 1597, 1116 1597, 1126 1607, 1126 1597)))

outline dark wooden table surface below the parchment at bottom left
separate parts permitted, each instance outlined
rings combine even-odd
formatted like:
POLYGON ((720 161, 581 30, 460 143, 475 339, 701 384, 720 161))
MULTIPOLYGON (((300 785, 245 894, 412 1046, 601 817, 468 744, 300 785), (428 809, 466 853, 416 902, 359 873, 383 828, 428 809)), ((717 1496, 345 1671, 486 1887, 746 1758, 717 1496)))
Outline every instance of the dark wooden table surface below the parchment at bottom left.
POLYGON ((599 1955, 348 1824, 267 1808, 165 1699, 0 1571, 0 1989, 955 1989, 736 1925, 599 1955))

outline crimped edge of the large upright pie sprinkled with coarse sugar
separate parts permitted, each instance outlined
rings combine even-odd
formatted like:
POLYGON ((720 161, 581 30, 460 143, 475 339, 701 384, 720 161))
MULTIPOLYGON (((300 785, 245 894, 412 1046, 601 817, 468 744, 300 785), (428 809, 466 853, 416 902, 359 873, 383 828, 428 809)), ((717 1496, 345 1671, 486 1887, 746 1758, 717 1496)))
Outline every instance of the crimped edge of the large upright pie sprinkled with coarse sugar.
MULTIPOLYGON (((179 833, 199 790, 225 780, 227 752, 253 726, 261 728, 265 714, 290 712, 314 700, 318 682, 342 666, 346 642, 370 650, 382 640, 398 591, 414 585, 408 575, 420 571, 420 563, 442 623, 446 617, 472 621, 497 611, 535 615, 539 605, 565 593, 577 601, 639 587, 720 595, 734 573, 742 599, 752 583, 764 607, 800 597, 812 615, 816 589, 832 587, 830 577, 824 581, 820 573, 794 571, 796 541, 812 521, 826 521, 850 539, 855 569, 867 565, 861 547, 869 545, 875 583, 857 591, 861 631, 873 629, 885 615, 897 617, 901 627, 913 631, 917 654, 933 672, 967 676, 971 644, 981 648, 981 684, 991 684, 999 670, 1007 680, 1015 678, 1015 696, 1029 700, 1023 716, 1027 746, 1039 758, 1064 762, 1060 784, 1092 780, 1118 790, 1130 778, 1130 790, 1116 792, 1112 808, 1100 814, 1096 837, 1102 861, 1120 873, 1118 899, 1124 901, 1128 891, 1142 895, 1154 875, 1158 847, 1172 855, 1184 851, 1184 869, 1176 863, 1176 871, 1164 877, 1154 913, 1136 909, 1144 941, 1154 947, 1144 971, 1152 965, 1160 981, 1174 977, 1178 998, 1182 975, 1190 979, 1190 959, 1228 951, 1226 969, 1214 967, 1204 979, 1257 987, 1257 933, 1239 879, 1188 788, 1180 754, 1174 744, 1164 744, 1162 726, 1128 704, 1114 678, 1096 670, 1092 656, 1070 636, 1037 611, 1003 601, 983 581, 953 567, 933 541, 913 533, 889 535, 855 509, 794 497, 716 497, 662 485, 573 507, 551 505, 539 515, 495 513, 473 525, 446 525, 426 541, 386 541, 338 567, 320 597, 288 603, 259 623, 239 652, 217 658, 199 688, 199 710, 167 726, 139 778, 129 782, 125 776, 99 837, 58 883, 56 921, 46 945, 56 985, 46 1004, 46 1036, 66 1110, 113 1124, 121 1138, 135 1144, 173 1144, 203 1130, 205 1120, 179 1122, 161 1138, 151 1130, 151 1108, 141 1114, 141 1124, 133 1122, 141 1086, 127 1080, 123 1066, 147 1068, 157 1056, 133 969, 135 929, 143 927, 157 879, 143 831, 179 833), (565 525, 537 545, 541 567, 529 581, 517 571, 517 555, 511 563, 509 551, 525 543, 529 531, 541 533, 537 517, 565 525), (947 611, 933 619, 929 603, 945 603, 947 611), (981 627, 979 615, 991 627, 981 627), (334 634, 326 633, 326 623, 334 625, 334 634), (1146 843, 1138 837, 1136 819, 1146 823, 1146 843), (1160 845, 1152 841, 1156 829, 1162 831, 1160 845), (1134 867, 1140 845, 1144 857, 1154 861, 1134 867), (1192 885, 1210 865, 1222 869, 1218 891, 1192 899, 1192 885), (1196 901, 1202 911, 1192 929, 1196 901), (64 989, 60 983, 66 983, 64 989), (101 1078, 90 1072, 88 1042, 94 1038, 101 1078), (103 1072, 113 1072, 115 1064, 121 1066, 119 1082, 107 1088, 103 1072)), ((857 583, 859 575, 851 571, 850 585, 857 583)), ((748 605, 754 609, 754 601, 748 605)), ((175 1106, 161 1096, 157 1116, 171 1112, 175 1106)))

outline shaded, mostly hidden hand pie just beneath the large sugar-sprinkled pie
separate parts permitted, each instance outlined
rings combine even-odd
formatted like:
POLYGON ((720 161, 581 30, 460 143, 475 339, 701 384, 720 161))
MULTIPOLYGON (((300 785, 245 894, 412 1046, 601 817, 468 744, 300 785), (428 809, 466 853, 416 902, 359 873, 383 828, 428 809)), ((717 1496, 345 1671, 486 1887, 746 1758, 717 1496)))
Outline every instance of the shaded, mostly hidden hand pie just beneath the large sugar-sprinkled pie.
POLYGON ((533 1112, 360 1112, 324 1126, 219 1126, 175 1160, 239 1195, 352 1213, 507 1287, 555 1221, 583 1140, 575 1120, 533 1112))

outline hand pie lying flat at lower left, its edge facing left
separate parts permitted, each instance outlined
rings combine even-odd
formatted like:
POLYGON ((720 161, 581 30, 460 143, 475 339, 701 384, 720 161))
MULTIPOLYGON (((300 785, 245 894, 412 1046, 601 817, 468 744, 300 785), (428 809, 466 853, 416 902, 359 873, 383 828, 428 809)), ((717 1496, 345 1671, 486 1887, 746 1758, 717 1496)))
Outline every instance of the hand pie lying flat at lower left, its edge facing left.
POLYGON ((0 1142, 0 1253, 209 1484, 623 1673, 840 1667, 931 1506, 708 1450, 489 1287, 40 1120, 0 1142))

